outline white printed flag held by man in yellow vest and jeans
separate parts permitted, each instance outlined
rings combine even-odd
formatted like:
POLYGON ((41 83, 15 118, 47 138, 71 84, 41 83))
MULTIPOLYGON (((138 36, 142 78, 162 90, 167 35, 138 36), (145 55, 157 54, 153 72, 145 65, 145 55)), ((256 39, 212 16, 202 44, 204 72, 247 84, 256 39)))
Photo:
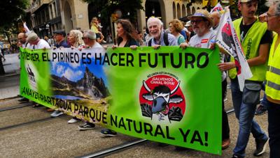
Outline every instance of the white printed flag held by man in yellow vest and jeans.
POLYGON ((225 13, 221 17, 216 38, 218 45, 235 58, 239 88, 243 91, 245 79, 250 79, 253 77, 253 74, 244 56, 228 7, 225 8, 225 13))

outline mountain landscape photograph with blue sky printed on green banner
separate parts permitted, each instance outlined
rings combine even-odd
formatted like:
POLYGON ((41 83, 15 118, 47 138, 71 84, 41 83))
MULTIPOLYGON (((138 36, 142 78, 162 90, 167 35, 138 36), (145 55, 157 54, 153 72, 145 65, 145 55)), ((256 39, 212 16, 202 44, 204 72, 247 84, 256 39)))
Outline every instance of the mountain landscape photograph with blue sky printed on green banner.
POLYGON ((102 100, 109 97, 106 76, 97 67, 99 65, 52 62, 50 80, 54 97, 63 100, 102 100))

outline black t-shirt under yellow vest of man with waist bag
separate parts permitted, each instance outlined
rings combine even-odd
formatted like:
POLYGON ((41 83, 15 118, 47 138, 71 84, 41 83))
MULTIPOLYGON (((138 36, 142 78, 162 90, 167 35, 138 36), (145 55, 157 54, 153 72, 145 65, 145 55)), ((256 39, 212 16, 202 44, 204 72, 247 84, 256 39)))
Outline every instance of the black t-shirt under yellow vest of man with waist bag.
MULTIPOLYGON (((249 25, 244 25, 243 24, 243 19, 241 20, 241 24, 240 24, 240 42, 242 42, 246 36, 246 34, 248 33, 248 30, 251 28, 251 26, 253 26, 253 24, 255 24, 255 22, 253 22, 252 24, 249 25)), ((272 37, 272 31, 265 31, 265 34, 262 36, 262 39, 260 40, 260 45, 265 44, 265 43, 272 43, 273 41, 273 37, 272 37)))

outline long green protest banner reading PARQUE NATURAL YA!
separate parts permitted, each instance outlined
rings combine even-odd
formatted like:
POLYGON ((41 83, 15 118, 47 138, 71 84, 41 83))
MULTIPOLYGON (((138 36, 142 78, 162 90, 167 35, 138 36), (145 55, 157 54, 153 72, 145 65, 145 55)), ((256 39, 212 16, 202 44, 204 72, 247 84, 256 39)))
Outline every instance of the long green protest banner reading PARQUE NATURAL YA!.
POLYGON ((20 49, 20 94, 116 132, 221 155, 218 49, 20 49))

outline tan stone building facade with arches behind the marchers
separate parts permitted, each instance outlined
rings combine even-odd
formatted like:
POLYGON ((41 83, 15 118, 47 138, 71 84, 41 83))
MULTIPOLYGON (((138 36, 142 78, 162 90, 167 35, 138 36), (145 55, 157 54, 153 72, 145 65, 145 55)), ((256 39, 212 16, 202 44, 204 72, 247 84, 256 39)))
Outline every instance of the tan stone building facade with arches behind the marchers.
MULTIPOLYGON (((209 3, 206 0, 143 0, 144 10, 137 10, 136 26, 141 30, 146 26, 148 17, 154 16, 162 19, 167 28, 172 19, 191 15, 209 3)), ((218 0, 211 1, 211 6, 216 3, 218 0)), ((90 19, 94 16, 102 17, 101 8, 94 6, 94 3, 82 0, 31 0, 31 27, 41 37, 50 35, 57 29, 64 29, 66 33, 71 29, 90 29, 90 19)), ((106 27, 111 30, 108 27, 112 25, 106 27)))

